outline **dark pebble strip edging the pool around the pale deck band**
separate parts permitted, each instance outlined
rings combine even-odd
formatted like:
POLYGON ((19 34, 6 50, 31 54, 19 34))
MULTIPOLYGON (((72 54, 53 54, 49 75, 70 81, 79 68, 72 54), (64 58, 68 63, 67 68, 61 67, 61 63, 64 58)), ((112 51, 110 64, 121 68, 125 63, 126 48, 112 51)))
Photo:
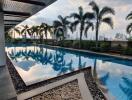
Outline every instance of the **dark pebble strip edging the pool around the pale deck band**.
POLYGON ((19 73, 17 72, 17 70, 15 69, 15 67, 13 66, 12 62, 10 61, 10 59, 8 57, 7 57, 7 66, 8 66, 8 70, 9 70, 9 73, 11 75, 14 87, 16 89, 17 95, 20 95, 21 93, 24 93, 24 92, 27 92, 27 91, 30 91, 33 89, 36 89, 40 86, 46 86, 50 83, 54 83, 54 82, 57 82, 59 80, 61 81, 64 78, 71 77, 73 75, 76 75, 78 73, 83 72, 87 86, 89 88, 89 91, 90 91, 92 97, 93 98, 98 97, 98 98, 102 98, 102 99, 106 100, 106 96, 98 88, 96 82, 94 81, 94 79, 92 77, 91 67, 86 67, 86 68, 83 68, 83 69, 80 69, 80 70, 77 70, 77 71, 74 71, 74 72, 71 72, 68 74, 64 74, 64 75, 59 76, 59 77, 55 77, 52 79, 48 79, 48 80, 33 84, 31 86, 26 86, 25 83, 23 82, 22 78, 20 77, 19 73))

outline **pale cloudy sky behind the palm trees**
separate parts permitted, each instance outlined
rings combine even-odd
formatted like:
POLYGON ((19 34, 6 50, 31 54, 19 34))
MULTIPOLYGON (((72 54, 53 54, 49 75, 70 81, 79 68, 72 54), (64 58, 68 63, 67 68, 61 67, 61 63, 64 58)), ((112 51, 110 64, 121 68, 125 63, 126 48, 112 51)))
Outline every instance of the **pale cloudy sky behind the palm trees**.
MULTIPOLYGON (((88 5, 92 0, 57 0, 47 8, 30 17, 22 24, 39 25, 42 22, 52 25, 54 20, 57 20, 58 15, 68 16, 71 13, 78 12, 78 7, 82 6, 84 11, 92 11, 88 5)), ((114 39, 116 33, 126 35, 126 26, 128 21, 126 16, 132 11, 132 0, 94 0, 101 8, 105 6, 112 7, 115 10, 115 16, 112 16, 114 29, 112 30, 107 24, 102 24, 99 30, 99 36, 104 36, 109 39, 114 39)), ((79 30, 75 33, 68 31, 70 38, 76 39, 79 36, 79 30)), ((88 32, 88 38, 83 36, 83 39, 95 39, 95 31, 88 32)))

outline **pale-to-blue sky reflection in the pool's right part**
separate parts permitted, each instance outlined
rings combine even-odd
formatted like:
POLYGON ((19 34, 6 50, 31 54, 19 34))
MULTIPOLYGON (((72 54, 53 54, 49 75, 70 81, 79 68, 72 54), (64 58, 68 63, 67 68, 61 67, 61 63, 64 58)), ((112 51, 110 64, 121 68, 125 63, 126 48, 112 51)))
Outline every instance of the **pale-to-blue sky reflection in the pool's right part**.
POLYGON ((97 70, 102 72, 102 74, 105 72, 110 73, 109 79, 106 81, 106 87, 109 89, 109 93, 115 96, 116 100, 129 100, 119 85, 124 84, 122 77, 129 76, 129 79, 132 80, 132 77, 130 77, 132 76, 132 67, 111 62, 102 63, 102 61, 97 61, 97 70))

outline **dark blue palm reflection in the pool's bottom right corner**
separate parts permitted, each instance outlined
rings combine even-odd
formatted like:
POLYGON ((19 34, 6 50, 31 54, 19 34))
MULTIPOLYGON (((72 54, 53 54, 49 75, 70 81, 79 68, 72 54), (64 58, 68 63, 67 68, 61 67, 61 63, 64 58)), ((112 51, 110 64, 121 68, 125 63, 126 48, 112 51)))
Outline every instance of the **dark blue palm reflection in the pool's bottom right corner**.
POLYGON ((126 94, 128 100, 132 100, 132 80, 126 77, 122 77, 125 85, 119 84, 121 90, 126 94))

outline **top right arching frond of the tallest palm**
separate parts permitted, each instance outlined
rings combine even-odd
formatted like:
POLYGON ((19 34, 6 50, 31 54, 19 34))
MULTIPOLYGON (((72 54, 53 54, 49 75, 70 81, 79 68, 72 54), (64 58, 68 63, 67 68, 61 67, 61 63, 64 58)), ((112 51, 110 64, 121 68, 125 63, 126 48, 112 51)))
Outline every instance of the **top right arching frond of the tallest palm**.
POLYGON ((104 7, 101 11, 100 11, 100 15, 99 18, 102 18, 104 15, 106 14, 112 14, 115 15, 115 11, 114 9, 110 8, 110 7, 104 7))

